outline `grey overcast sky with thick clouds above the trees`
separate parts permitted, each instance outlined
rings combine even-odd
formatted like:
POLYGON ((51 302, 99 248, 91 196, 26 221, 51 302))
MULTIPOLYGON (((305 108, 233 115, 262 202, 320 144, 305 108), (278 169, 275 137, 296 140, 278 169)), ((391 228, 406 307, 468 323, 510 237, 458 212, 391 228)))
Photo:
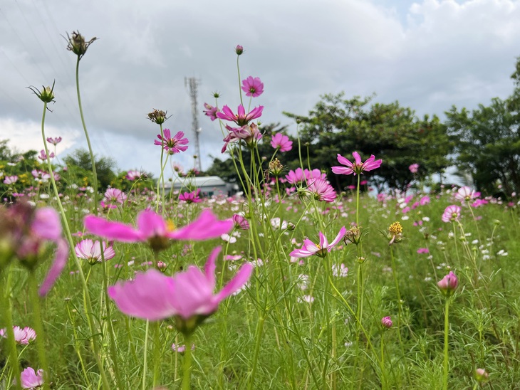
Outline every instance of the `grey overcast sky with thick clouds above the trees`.
MULTIPOLYGON (((221 156, 222 133, 202 114, 213 91, 239 104, 241 76, 259 77, 264 123, 296 130, 282 111, 306 115, 325 93, 376 93, 417 115, 474 108, 507 97, 520 56, 520 0, 0 0, 0 139, 43 148, 43 104, 28 85, 56 80, 48 137, 58 154, 86 148, 76 100, 76 56, 66 33, 100 38, 80 62, 83 110, 95 153, 120 169, 158 176, 159 127, 152 108, 172 115, 172 132, 192 135, 185 77, 199 85, 202 168, 221 156)), ((338 151, 350 154, 351 151, 338 151)), ((189 169, 194 147, 175 160, 189 169)))

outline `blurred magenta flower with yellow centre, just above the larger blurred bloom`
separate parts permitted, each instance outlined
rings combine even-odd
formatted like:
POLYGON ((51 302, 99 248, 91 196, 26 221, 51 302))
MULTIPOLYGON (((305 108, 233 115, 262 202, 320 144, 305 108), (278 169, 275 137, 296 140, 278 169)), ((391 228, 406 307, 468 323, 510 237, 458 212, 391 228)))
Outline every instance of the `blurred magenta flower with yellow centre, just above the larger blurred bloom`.
POLYGON ((179 229, 173 228, 152 210, 137 215, 137 228, 121 222, 107 221, 98 216, 86 216, 85 228, 97 236, 124 243, 147 242, 154 251, 170 246, 170 240, 202 241, 217 238, 233 227, 232 221, 219 221, 211 210, 202 211, 197 220, 179 229))

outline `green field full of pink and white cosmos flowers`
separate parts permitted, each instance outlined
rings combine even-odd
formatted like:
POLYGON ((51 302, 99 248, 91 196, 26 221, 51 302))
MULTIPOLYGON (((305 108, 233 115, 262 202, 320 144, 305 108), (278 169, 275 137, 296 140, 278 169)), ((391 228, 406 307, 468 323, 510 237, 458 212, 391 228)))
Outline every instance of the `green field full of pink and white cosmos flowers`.
MULTIPOLYGON (((68 41, 79 67, 95 38, 68 41)), ((161 110, 157 181, 130 171, 98 191, 94 163, 92 186, 75 181, 45 134, 58 92, 33 89, 43 164, 30 184, 1 178, 0 389, 519 388, 516 194, 425 191, 420 164, 406 191, 373 194, 384 158, 309 166, 298 137, 255 122, 260 78, 239 81, 237 110, 201 107, 243 180, 234 196, 165 190, 189 142, 161 110)))

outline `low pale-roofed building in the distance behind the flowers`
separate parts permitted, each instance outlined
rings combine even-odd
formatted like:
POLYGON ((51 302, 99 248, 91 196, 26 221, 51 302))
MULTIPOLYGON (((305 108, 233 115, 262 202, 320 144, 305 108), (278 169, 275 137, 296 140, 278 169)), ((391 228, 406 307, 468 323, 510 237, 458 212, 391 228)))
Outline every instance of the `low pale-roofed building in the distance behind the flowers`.
MULTIPOLYGON (((170 184, 170 183, 169 183, 170 184)), ((166 191, 184 192, 189 189, 200 189, 200 196, 224 195, 232 196, 239 191, 237 184, 227 183, 219 176, 178 177, 172 184, 166 184, 166 191)))

